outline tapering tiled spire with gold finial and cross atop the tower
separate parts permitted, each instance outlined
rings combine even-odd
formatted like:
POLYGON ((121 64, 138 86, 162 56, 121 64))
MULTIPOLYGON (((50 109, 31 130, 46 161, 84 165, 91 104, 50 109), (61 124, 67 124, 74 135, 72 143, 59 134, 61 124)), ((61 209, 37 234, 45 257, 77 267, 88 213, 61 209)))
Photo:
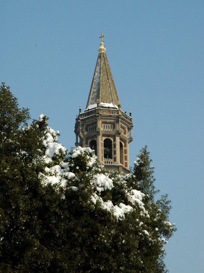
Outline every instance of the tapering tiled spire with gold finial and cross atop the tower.
POLYGON ((97 103, 100 107, 114 108, 118 108, 119 104, 118 93, 116 91, 113 76, 105 53, 106 49, 103 42, 104 36, 104 34, 101 34, 99 37, 101 38, 101 43, 100 48, 98 49, 99 54, 86 109, 97 107, 97 103))

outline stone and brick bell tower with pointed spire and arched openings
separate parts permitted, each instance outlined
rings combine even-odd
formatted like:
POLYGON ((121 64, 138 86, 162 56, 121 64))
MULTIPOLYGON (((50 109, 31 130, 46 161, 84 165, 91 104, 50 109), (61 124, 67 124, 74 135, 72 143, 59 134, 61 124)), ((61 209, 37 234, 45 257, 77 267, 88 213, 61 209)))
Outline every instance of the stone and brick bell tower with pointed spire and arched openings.
POLYGON ((106 169, 129 173, 132 117, 122 111, 101 34, 98 59, 86 109, 75 122, 76 146, 90 147, 106 169))

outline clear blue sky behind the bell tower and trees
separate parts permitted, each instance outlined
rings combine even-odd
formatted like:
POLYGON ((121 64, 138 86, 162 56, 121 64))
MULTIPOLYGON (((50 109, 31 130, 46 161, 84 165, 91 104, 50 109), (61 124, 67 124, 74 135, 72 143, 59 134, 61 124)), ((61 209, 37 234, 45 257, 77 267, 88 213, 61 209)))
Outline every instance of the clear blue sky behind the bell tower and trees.
POLYGON ((132 109, 131 166, 148 145, 156 188, 178 231, 170 273, 203 272, 204 1, 1 0, 0 80, 74 146, 101 31, 123 111, 132 109))

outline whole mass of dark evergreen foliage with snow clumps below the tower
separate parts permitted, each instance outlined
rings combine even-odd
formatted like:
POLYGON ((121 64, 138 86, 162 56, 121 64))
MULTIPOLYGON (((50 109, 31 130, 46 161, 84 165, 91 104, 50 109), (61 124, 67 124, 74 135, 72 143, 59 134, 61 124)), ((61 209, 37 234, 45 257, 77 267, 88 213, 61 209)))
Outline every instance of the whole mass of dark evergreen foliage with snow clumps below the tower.
POLYGON ((2 84, 0 271, 165 272, 176 229, 147 147, 130 174, 108 173, 90 148, 66 154, 46 116, 29 118, 2 84))

